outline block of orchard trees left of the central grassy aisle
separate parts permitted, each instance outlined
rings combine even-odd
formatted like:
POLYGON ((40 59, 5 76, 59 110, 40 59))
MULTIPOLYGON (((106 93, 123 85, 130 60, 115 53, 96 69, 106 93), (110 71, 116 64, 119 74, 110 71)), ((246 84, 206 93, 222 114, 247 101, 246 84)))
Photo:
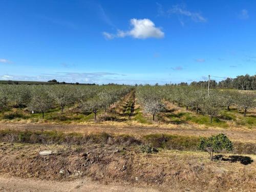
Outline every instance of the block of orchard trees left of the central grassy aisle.
POLYGON ((76 106, 81 112, 108 109, 111 104, 131 91, 131 86, 76 86, 76 85, 2 85, 0 110, 5 106, 27 107, 30 111, 44 113, 60 107, 76 106))

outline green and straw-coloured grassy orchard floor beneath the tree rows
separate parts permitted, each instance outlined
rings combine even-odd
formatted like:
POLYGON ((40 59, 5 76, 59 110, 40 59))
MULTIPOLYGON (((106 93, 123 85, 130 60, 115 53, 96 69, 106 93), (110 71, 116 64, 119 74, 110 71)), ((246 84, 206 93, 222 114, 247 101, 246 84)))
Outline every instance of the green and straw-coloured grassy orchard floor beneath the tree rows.
POLYGON ((93 113, 80 113, 73 106, 66 107, 61 113, 60 108, 49 110, 45 113, 45 119, 41 119, 41 114, 31 114, 26 108, 5 109, 0 113, 0 122, 21 122, 21 123, 63 123, 63 124, 119 124, 122 125, 186 125, 195 128, 221 128, 221 129, 242 129, 254 130, 256 128, 256 109, 249 110, 247 116, 243 117, 243 112, 239 112, 231 106, 231 110, 222 110, 220 115, 214 117, 212 123, 206 115, 197 115, 195 111, 185 107, 178 107, 166 101, 167 112, 158 114, 156 121, 152 120, 152 115, 143 114, 142 109, 136 103, 135 93, 132 91, 122 100, 111 106, 107 112, 99 111, 97 121, 94 121, 93 113), (114 123, 113 123, 114 122, 114 123))

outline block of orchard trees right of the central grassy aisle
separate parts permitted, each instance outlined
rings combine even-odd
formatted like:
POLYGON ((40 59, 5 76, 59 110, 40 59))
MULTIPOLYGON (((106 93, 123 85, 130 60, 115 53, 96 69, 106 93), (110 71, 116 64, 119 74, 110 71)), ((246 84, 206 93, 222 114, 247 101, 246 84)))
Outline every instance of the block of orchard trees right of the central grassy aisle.
POLYGON ((136 90, 138 102, 142 105, 145 113, 155 115, 165 111, 164 100, 185 105, 212 118, 220 114, 223 109, 230 110, 231 105, 243 110, 244 116, 248 109, 256 107, 255 92, 239 92, 232 90, 197 89, 182 86, 139 86, 136 90))

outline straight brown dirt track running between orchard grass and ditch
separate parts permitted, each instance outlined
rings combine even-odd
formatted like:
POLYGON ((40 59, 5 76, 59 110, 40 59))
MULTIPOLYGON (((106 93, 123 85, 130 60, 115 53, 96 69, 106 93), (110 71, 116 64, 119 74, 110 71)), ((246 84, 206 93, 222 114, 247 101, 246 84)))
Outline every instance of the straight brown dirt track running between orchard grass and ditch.
POLYGON ((81 133, 99 133, 106 132, 112 134, 132 134, 141 136, 152 133, 167 133, 176 135, 189 136, 210 136, 219 133, 225 133, 230 139, 236 141, 246 141, 255 143, 256 132, 254 130, 225 130, 225 129, 196 129, 193 127, 184 127, 177 125, 176 127, 154 127, 154 126, 117 126, 106 124, 95 125, 74 125, 74 124, 22 124, 22 123, 0 123, 0 130, 31 130, 31 131, 62 131, 62 132, 81 132, 81 133))

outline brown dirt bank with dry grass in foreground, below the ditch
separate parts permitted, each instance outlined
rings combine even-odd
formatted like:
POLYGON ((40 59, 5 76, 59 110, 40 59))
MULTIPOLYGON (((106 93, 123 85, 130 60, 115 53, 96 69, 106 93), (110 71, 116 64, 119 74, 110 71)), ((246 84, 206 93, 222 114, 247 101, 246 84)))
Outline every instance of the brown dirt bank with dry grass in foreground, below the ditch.
MULTIPOLYGON (((2 143, 0 173, 5 177, 51 180, 48 187, 67 182, 72 183, 72 188, 78 186, 76 183, 81 179, 89 177, 104 184, 117 183, 120 188, 117 187, 116 191, 139 191, 133 187, 148 189, 145 191, 154 191, 152 187, 159 191, 256 190, 255 155, 226 154, 216 157, 219 160, 210 161, 206 153, 167 150, 144 154, 133 146, 123 148, 92 144, 69 147, 2 143), (57 153, 50 156, 38 155, 42 150, 56 150, 57 153), (129 185, 129 188, 123 188, 123 185, 129 185)), ((30 186, 33 182, 28 181, 30 186)), ((1 182, 6 183, 6 180, 0 178, 1 182)), ((18 183, 22 187, 25 185, 22 181, 18 183)), ((38 186, 40 184, 41 181, 38 186)), ((3 186, 8 187, 7 184, 3 186)), ((105 187, 99 184, 101 186, 105 187)), ((106 191, 115 191, 110 189, 106 191)))

